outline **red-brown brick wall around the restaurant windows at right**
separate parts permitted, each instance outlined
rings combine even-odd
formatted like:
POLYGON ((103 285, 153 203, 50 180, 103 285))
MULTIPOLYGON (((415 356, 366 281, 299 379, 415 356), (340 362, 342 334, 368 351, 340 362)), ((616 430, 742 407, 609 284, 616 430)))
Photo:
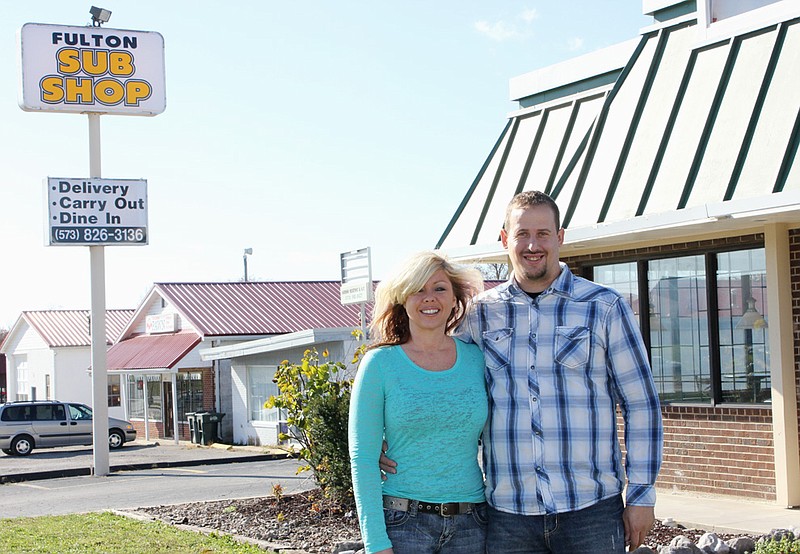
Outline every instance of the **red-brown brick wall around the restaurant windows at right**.
MULTIPOLYGON (((790 231, 795 384, 800 398, 800 230, 790 231)), ((570 269, 643 256, 688 255, 763 245, 763 234, 651 246, 565 258, 570 269)), ((660 489, 774 501, 772 411, 763 406, 663 405, 664 463, 660 489)), ((798 416, 800 417, 800 416, 798 416)), ((620 424, 620 437, 622 426, 620 424)))

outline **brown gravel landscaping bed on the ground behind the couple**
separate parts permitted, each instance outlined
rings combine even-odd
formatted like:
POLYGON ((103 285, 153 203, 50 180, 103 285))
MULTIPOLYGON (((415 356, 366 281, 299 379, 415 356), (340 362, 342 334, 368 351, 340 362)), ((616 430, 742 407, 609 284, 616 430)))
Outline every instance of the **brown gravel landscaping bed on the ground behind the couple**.
MULTIPOLYGON (((244 535, 312 554, 333 552, 335 545, 360 540, 354 509, 341 508, 318 490, 283 496, 194 502, 137 510, 167 523, 186 524, 244 535)), ((697 542, 705 531, 667 527, 656 521, 645 544, 658 552, 679 535, 697 542)), ((722 540, 743 535, 719 534, 722 540)), ((757 537, 754 537, 757 538, 757 537)))

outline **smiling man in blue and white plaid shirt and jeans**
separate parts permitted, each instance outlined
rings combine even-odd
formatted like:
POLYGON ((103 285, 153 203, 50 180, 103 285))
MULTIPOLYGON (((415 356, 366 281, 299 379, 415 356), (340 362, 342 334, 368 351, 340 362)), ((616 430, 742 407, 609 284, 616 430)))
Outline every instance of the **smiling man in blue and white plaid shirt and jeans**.
POLYGON ((487 366, 487 550, 634 550, 654 522, 662 426, 633 311, 559 261, 564 230, 546 194, 515 196, 501 239, 513 275, 476 299, 461 329, 487 366))

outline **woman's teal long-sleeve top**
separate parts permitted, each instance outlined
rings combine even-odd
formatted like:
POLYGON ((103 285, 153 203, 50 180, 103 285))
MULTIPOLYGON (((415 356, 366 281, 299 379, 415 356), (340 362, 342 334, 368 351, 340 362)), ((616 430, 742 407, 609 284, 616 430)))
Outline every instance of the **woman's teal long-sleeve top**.
POLYGON ((384 494, 426 502, 483 502, 478 439, 488 416, 484 360, 474 344, 456 340, 456 363, 423 369, 400 346, 370 350, 350 401, 353 490, 367 553, 392 546, 383 518, 384 494), (384 436, 397 473, 381 480, 384 436))

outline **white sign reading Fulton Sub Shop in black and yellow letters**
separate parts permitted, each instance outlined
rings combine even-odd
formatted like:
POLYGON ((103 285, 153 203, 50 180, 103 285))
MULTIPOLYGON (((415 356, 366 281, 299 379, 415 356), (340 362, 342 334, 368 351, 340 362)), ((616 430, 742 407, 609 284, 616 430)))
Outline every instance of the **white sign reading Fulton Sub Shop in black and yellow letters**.
POLYGON ((157 115, 166 108, 159 33, 26 23, 19 45, 23 110, 157 115))

